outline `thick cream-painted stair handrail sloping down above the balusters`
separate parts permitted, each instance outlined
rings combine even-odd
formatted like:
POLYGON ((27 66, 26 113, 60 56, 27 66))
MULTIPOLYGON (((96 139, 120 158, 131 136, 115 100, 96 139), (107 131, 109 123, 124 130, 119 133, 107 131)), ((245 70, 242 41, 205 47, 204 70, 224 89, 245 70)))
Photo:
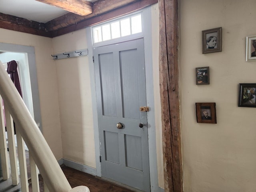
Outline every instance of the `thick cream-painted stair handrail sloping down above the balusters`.
MULTIPOLYGON (((29 152, 36 162, 40 174, 42 174, 50 192, 73 191, 44 136, 30 115, 30 112, 1 62, 0 95, 4 100, 5 108, 8 108, 14 122, 19 125, 16 129, 19 130, 22 138, 26 142, 29 152)), ((90 191, 87 189, 85 186, 81 187, 81 190, 84 192, 90 191)))

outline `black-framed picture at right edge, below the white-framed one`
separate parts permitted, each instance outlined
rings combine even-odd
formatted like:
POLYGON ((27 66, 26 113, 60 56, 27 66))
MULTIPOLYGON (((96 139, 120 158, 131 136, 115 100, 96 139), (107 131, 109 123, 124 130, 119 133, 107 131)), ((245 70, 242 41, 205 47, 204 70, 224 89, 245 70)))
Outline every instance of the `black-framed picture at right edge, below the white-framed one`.
POLYGON ((238 107, 256 107, 256 83, 240 83, 238 107))

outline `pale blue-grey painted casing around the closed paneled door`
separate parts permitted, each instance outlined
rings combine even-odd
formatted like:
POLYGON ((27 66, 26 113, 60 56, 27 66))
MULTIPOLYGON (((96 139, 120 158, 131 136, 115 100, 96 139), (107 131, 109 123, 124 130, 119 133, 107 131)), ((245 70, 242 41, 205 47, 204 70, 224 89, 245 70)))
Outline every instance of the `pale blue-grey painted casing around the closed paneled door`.
MULTIPOLYGON (((143 34, 138 38, 144 38, 144 55, 145 55, 145 75, 146 75, 146 98, 147 106, 150 106, 148 112, 148 148, 149 148, 149 164, 150 164, 150 188, 151 192, 164 192, 158 186, 158 167, 156 159, 156 126, 155 126, 155 110, 154 110, 154 90, 153 90, 153 62, 152 62, 152 24, 151 24, 151 6, 140 10, 143 20, 143 34)), ((94 144, 96 155, 96 176, 101 177, 100 167, 100 140, 98 130, 98 113, 96 102, 96 87, 94 76, 94 64, 92 58, 93 48, 91 27, 86 28, 86 37, 88 44, 88 60, 90 69, 90 83, 92 92, 92 113, 94 124, 94 144)), ((132 39, 130 39, 132 40, 132 39)), ((118 41, 113 41, 117 43, 118 41)))

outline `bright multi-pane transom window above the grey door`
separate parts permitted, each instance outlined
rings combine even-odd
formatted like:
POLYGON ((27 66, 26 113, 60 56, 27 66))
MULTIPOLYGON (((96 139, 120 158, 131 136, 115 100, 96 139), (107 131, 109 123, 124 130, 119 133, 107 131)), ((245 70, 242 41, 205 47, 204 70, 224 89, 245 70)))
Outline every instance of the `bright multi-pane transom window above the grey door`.
POLYGON ((94 43, 139 33, 142 33, 141 13, 129 15, 92 27, 94 43))

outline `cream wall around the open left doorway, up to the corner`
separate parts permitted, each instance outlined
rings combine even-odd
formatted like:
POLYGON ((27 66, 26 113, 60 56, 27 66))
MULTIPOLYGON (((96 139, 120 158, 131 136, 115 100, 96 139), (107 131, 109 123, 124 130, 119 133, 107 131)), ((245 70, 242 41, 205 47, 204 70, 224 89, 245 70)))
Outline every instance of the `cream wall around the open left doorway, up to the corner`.
MULTIPOLYGON (((0 28, 0 42, 33 46, 40 96, 42 131, 57 160, 62 158, 56 68, 50 38, 0 28)), ((0 50, 3 50, 1 47, 0 50)))

